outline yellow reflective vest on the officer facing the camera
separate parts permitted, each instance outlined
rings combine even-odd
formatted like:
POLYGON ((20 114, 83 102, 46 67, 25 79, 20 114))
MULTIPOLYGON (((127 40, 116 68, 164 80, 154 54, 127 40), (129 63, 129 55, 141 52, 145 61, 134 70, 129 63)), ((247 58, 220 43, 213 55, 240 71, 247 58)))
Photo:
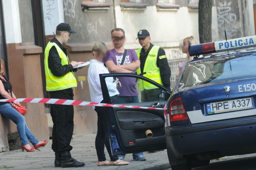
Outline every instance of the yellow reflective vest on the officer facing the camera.
MULTIPOLYGON (((161 48, 161 47, 153 46, 151 48, 151 50, 148 53, 148 56, 146 58, 146 62, 144 65, 144 70, 143 70, 144 74, 142 74, 142 75, 145 76, 146 78, 149 78, 149 79, 157 82, 158 84, 163 85, 161 76, 160 76, 159 67, 156 65, 159 48, 161 48)), ((136 51, 138 58, 140 58, 141 50, 142 50, 142 48, 140 48, 136 51)), ((140 68, 137 69, 137 74, 141 74, 140 68)), ((158 87, 154 86, 153 84, 146 82, 144 80, 140 80, 140 79, 138 80, 138 84, 139 84, 140 91, 158 88, 158 87)))

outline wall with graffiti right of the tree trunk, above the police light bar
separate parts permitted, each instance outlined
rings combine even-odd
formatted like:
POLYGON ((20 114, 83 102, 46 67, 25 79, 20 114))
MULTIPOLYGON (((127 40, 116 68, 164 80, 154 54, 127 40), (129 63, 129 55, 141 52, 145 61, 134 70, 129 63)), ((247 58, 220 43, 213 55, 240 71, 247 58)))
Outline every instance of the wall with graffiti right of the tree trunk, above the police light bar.
POLYGON ((252 0, 216 0, 216 8, 220 40, 225 40, 224 30, 227 39, 255 35, 252 0))

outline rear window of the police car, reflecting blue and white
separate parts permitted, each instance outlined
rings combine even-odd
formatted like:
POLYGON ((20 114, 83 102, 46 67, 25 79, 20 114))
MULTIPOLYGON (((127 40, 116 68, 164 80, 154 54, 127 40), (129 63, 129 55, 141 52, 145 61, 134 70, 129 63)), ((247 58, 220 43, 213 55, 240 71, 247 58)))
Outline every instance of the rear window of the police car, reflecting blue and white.
POLYGON ((256 53, 202 60, 186 65, 179 89, 256 77, 256 53))

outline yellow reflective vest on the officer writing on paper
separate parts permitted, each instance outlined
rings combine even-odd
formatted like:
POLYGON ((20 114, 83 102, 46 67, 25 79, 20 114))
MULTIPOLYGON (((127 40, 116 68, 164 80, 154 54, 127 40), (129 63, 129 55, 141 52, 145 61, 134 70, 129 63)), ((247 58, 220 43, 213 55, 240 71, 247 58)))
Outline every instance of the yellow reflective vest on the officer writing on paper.
POLYGON ((69 64, 68 56, 62 51, 62 49, 54 42, 49 42, 44 51, 44 70, 46 76, 46 90, 57 91, 72 88, 77 86, 76 77, 73 72, 68 72, 64 76, 54 76, 48 66, 49 51, 55 46, 61 59, 61 65, 69 64))

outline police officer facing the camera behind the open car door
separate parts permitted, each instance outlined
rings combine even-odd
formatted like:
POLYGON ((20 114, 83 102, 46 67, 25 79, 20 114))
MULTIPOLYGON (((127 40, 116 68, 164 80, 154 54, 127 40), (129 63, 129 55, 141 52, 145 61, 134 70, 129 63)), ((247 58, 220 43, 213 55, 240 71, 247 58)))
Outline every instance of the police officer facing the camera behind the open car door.
MULTIPOLYGON (((136 51, 140 59, 140 68, 138 68, 137 74, 150 78, 170 89, 171 70, 164 49, 150 43, 151 38, 147 30, 140 30, 137 39, 142 46, 136 51)), ((161 89, 143 80, 138 80, 138 83, 142 102, 159 100, 161 89)))

